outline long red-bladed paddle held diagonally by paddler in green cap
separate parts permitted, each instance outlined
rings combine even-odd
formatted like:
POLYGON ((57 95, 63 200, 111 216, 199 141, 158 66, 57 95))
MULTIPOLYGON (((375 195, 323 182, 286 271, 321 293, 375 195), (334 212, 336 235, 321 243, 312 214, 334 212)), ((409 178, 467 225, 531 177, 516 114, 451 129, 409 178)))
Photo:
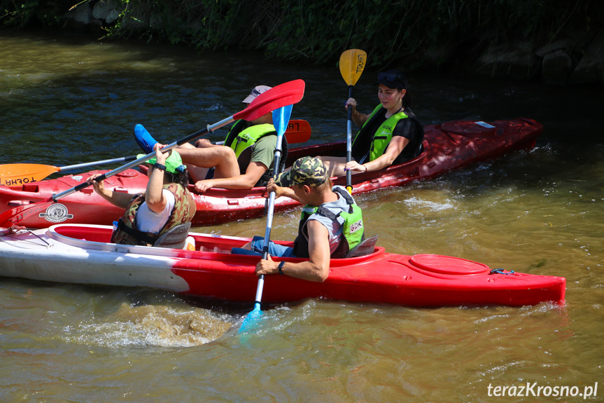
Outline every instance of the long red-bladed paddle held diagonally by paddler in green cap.
MULTIPOLYGON (((246 121, 253 121, 255 118, 259 118, 262 115, 269 113, 270 111, 274 111, 274 109, 279 109, 286 105, 295 104, 302 100, 304 96, 304 81, 302 80, 294 80, 289 81, 288 83, 283 83, 279 86, 273 87, 267 92, 262 93, 256 97, 251 104, 248 105, 246 109, 243 111, 237 112, 233 116, 223 119, 218 123, 214 123, 213 125, 208 125, 205 129, 199 130, 191 135, 183 137, 177 142, 168 144, 162 149, 162 152, 165 153, 171 149, 174 149, 176 146, 181 144, 185 144, 190 142, 191 140, 197 139, 197 137, 202 137, 213 130, 223 127, 228 123, 236 119, 244 119, 246 121)), ((103 175, 99 175, 95 180, 100 182, 108 177, 112 177, 113 175, 117 175, 120 172, 127 170, 128 168, 133 168, 136 165, 144 163, 146 160, 153 158, 155 156, 155 151, 148 153, 146 156, 138 158, 126 165, 122 165, 120 168, 116 168, 110 172, 106 172, 103 175)), ((43 200, 37 203, 31 203, 29 205, 22 205, 19 207, 15 207, 11 210, 7 210, 0 214, 0 226, 13 226, 19 224, 21 221, 31 216, 32 214, 40 214, 44 212, 52 203, 55 203, 59 198, 64 196, 68 196, 71 193, 76 191, 80 191, 90 186, 90 184, 83 183, 75 186, 71 189, 63 191, 57 195, 52 195, 48 200, 43 200)))

